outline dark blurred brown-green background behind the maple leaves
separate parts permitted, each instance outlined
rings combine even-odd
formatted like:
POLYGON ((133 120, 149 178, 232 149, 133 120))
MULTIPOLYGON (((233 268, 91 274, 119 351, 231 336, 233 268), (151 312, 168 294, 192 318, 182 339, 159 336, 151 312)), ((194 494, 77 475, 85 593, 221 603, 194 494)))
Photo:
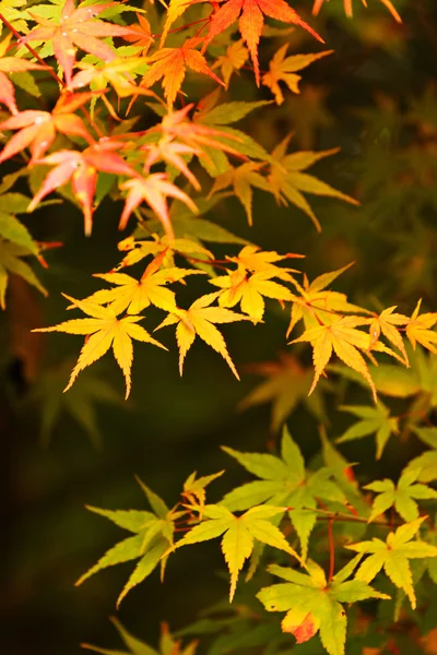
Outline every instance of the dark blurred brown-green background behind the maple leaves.
MULTIPOLYGON (((253 112, 238 126, 268 150, 290 132, 292 150, 339 146, 338 155, 310 172, 358 199, 361 206, 309 198, 321 234, 295 206, 277 207, 258 191, 252 228, 235 200, 218 203, 208 217, 263 249, 305 253, 299 264, 309 278, 354 261, 336 290, 374 310, 398 305, 410 314, 418 298, 424 307, 437 309, 437 5, 434 0, 393 0, 393 4, 402 24, 378 0, 368 0, 367 10, 356 0, 353 20, 344 16, 342 0, 327 0, 317 19, 310 15, 310 0, 294 2, 334 53, 303 72, 299 95, 286 93, 283 105, 253 112)), ((287 41, 290 53, 318 48, 303 31, 265 38, 261 68, 287 41)), ((192 79, 189 83, 198 97, 212 88, 200 87, 198 78, 192 79)), ((257 90, 250 71, 234 78, 227 99, 260 98, 271 96, 265 87, 257 90)), ((153 116, 147 112, 144 120, 153 116)), ((5 174, 12 170, 3 167, 5 174)), ((218 500, 247 479, 220 445, 243 451, 275 446, 271 404, 238 408, 265 379, 265 367, 250 365, 286 366, 281 353, 299 353, 303 366, 310 362, 308 348, 286 346, 288 317, 272 305, 263 324, 223 329, 241 382, 199 341, 179 378, 174 331, 166 330, 160 338, 169 354, 134 346, 128 402, 121 373, 109 356, 82 372, 62 395, 81 337, 28 331, 64 320, 61 291, 75 298, 90 295, 98 288, 92 273, 106 272, 120 259, 120 206, 103 202, 91 238, 83 236, 82 217, 68 203, 28 218, 35 238, 63 242, 47 253, 49 267, 37 272, 50 295, 45 299, 12 278, 8 311, 0 317, 5 549, 0 652, 4 654, 78 655, 81 642, 118 647, 108 617, 115 614, 116 597, 132 563, 74 587, 75 580, 125 534, 84 505, 149 509, 134 474, 173 505, 190 473, 226 468, 209 495, 211 501, 218 500)), ((236 253, 238 247, 214 247, 217 258, 231 251, 236 253)), ((196 294, 196 284, 189 287, 196 294)), ((160 320, 158 312, 147 312, 144 326, 152 330, 160 320)), ((347 417, 334 409, 344 393, 349 402, 368 403, 368 392, 361 386, 345 391, 344 385, 326 384, 318 416, 299 403, 288 417, 306 457, 319 450, 322 419, 332 438, 349 425, 347 417)), ((359 461, 363 469, 366 461, 373 462, 377 477, 381 471, 395 475, 417 449, 410 442, 402 449, 389 443, 378 464, 368 440, 342 452, 359 461)), ((118 617, 155 644, 160 621, 180 629, 226 594, 227 580, 220 571, 224 565, 216 544, 181 550, 170 560, 164 585, 154 572, 128 595, 118 617)))

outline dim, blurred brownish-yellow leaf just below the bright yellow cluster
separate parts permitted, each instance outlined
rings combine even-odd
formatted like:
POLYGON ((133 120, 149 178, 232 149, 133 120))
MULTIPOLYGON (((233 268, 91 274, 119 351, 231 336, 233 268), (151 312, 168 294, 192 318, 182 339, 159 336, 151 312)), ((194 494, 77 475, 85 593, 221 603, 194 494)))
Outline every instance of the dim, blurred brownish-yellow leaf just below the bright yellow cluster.
POLYGON ((300 403, 304 403, 318 420, 323 420, 322 396, 319 393, 308 396, 312 370, 304 369, 295 357, 281 353, 279 361, 252 364, 246 366, 246 370, 263 376, 265 380, 243 398, 238 407, 247 409, 261 403, 271 402, 270 428, 272 432, 277 432, 287 416, 300 403))

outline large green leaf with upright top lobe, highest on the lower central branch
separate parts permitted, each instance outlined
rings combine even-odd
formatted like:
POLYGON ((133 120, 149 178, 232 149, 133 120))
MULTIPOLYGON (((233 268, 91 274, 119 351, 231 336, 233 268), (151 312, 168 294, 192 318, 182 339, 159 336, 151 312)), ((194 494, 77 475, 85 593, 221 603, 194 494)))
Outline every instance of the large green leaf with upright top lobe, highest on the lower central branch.
MULTIPOLYGON (((308 551, 308 539, 316 524, 317 499, 345 503, 346 497, 339 485, 331 479, 334 468, 322 467, 316 473, 307 473, 298 445, 293 441, 286 427, 283 431, 281 454, 275 457, 261 453, 240 453, 232 448, 223 450, 235 457, 241 466, 261 480, 237 487, 223 499, 223 504, 232 510, 269 502, 273 505, 292 507, 290 519, 298 534, 302 557, 308 551)), ((284 510, 285 511, 285 510, 284 510)))

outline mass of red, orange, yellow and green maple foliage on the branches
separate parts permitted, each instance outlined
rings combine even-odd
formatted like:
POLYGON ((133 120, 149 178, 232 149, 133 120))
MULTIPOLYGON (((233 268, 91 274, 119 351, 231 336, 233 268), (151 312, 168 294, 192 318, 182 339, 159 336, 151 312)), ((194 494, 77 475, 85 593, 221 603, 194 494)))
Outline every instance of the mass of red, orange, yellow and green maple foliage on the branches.
MULTIPOLYGON (((400 22, 394 4, 381 1, 391 19, 400 22)), ((151 511, 90 507, 130 536, 109 549, 78 584, 101 569, 137 560, 119 604, 155 568, 163 576, 180 547, 220 539, 231 603, 244 585, 239 579, 247 562, 247 579, 260 575, 250 603, 267 627, 267 636, 256 645, 269 654, 292 652, 294 644, 317 634, 330 655, 349 653, 351 633, 364 635, 365 648, 370 620, 364 618, 363 602, 370 602, 363 607, 374 607, 392 600, 395 621, 405 606, 417 608, 418 596, 425 607, 426 594, 437 583, 433 559, 437 558, 433 519, 437 428, 428 418, 435 407, 433 394, 421 396, 422 405, 417 403, 408 426, 430 450, 412 460, 397 484, 386 478, 359 487, 355 463, 340 454, 324 428, 320 458, 316 465, 306 463, 297 440, 284 427, 300 403, 323 422, 319 385, 340 376, 366 386, 368 403, 341 406, 354 422, 336 434, 336 441, 374 434, 380 460, 405 419, 401 413, 392 414, 380 396, 414 396, 418 392, 409 390, 417 376, 435 374, 437 312, 420 298, 402 310, 378 301, 362 307, 336 290, 354 262, 311 279, 297 246, 265 250, 204 217, 216 203, 234 198, 252 226, 258 219, 253 198, 262 193, 277 206, 293 205, 312 230, 320 231, 323 225, 311 195, 335 206, 358 205, 353 190, 351 194, 338 190, 310 170, 327 157, 334 159, 339 148, 298 151, 292 134, 284 134, 267 150, 240 127, 250 124, 246 119, 257 112, 281 106, 287 94, 298 94, 306 69, 334 53, 335 44, 324 45, 315 17, 322 5, 316 0, 314 16, 307 11, 305 19, 288 0, 170 0, 168 5, 147 3, 146 9, 93 0, 0 5, 5 27, 0 44, 0 162, 9 166, 1 183, 5 207, 0 213, 1 308, 8 311, 11 276, 42 294, 50 291, 28 264, 33 259, 37 265, 51 265, 46 251, 59 246, 31 236, 33 221, 45 206, 73 203, 90 236, 101 204, 120 203, 122 240, 111 270, 94 272, 97 288, 87 297, 72 297, 75 294, 66 287, 66 314, 55 325, 34 327, 82 337, 64 391, 81 385, 79 373, 111 352, 128 398, 133 344, 135 352, 143 344, 169 349, 167 342, 158 341, 166 331, 155 335, 164 327, 173 330, 170 349, 178 352, 180 376, 190 366, 191 348, 202 341, 239 380, 244 367, 237 366, 225 335, 243 325, 226 324, 245 323, 255 334, 257 324, 269 321, 270 311, 286 317, 282 345, 290 348, 276 362, 251 366, 265 380, 240 404, 247 408, 273 403, 271 428, 281 436, 280 454, 224 448, 255 479, 216 503, 206 502, 206 487, 223 472, 199 478, 192 474, 172 507, 141 480, 151 511), (306 41, 310 52, 296 52, 283 43, 291 28, 310 35, 306 41), (282 45, 260 62, 261 39, 271 35, 280 35, 282 45), (243 72, 262 90, 262 99, 236 100, 227 95, 243 72), (22 76, 15 80, 15 73, 22 76), (45 103, 38 84, 49 84, 52 103, 45 103), (23 178, 32 195, 22 193, 23 178), (23 215, 23 222, 16 215, 23 215), (194 289, 192 301, 185 302, 186 288, 194 289), (141 324, 149 317, 150 331, 141 324), (390 381, 395 385, 398 376, 410 381, 408 391, 406 386, 392 391, 390 381), (320 524, 326 528, 327 567, 323 557, 318 561, 320 552, 311 543, 320 524), (358 529, 347 536, 335 532, 334 524, 358 529), (335 555, 338 550, 341 555, 335 555), (347 632, 351 607, 359 609, 347 632), (270 612, 279 614, 275 623, 270 612), (282 648, 284 644, 288 650, 282 648)), ((344 0, 344 10, 352 16, 352 0, 344 0)), ((369 20, 370 15, 369 11, 369 20)), ((139 376, 137 368, 133 384, 139 376)), ((117 620, 115 624, 131 653, 156 653, 117 620)), ((197 650, 197 642, 184 647, 163 630, 164 655, 191 655, 197 650)), ((389 648, 390 635, 380 631, 379 638, 375 652, 388 652, 383 648, 389 648)))

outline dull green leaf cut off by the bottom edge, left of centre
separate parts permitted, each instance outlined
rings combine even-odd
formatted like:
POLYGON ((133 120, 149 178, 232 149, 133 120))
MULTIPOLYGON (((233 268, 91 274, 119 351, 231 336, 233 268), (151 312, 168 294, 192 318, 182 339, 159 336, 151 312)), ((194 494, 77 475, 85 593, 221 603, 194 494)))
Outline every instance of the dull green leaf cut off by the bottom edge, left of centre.
POLYGON ((194 655, 196 653, 197 641, 189 643, 182 648, 180 640, 174 640, 168 632, 166 623, 163 623, 162 626, 160 650, 156 651, 128 632, 120 621, 114 617, 110 620, 129 651, 109 651, 108 648, 99 648, 98 646, 92 646, 91 644, 81 644, 82 648, 93 651, 94 653, 101 653, 101 655, 194 655))

